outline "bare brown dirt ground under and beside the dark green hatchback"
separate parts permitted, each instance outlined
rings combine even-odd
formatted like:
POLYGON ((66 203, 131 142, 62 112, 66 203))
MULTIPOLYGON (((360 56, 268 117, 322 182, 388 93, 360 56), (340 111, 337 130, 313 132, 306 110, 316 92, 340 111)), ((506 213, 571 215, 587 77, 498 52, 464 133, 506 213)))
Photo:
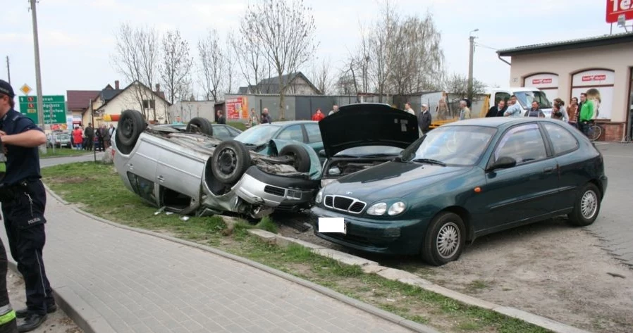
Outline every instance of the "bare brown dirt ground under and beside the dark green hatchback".
MULTIPOLYGON (((343 249, 314 236, 312 230, 297 233, 282 226, 280 233, 343 249)), ((479 299, 520 308, 591 332, 630 333, 633 270, 600 245, 585 230, 569 227, 564 220, 548 220, 477 239, 465 249, 460 260, 439 268, 424 265, 417 258, 343 251, 414 272, 479 299)))

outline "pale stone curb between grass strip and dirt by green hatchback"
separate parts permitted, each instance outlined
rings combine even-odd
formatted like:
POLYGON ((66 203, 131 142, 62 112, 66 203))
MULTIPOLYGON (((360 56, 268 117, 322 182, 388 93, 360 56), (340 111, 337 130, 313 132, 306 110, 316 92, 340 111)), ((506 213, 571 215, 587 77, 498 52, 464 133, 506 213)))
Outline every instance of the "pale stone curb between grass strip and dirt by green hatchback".
POLYGON ((467 306, 477 306, 478 308, 492 310, 496 313, 500 313, 510 318, 522 320, 524 322, 529 322, 532 325, 548 329, 555 333, 591 333, 584 329, 572 327, 570 325, 563 324, 562 322, 557 322, 555 320, 551 320, 540 315, 535 315, 534 313, 529 313, 524 310, 512 308, 510 306, 500 306, 498 304, 484 301, 482 299, 477 299, 475 297, 468 296, 466 294, 462 294, 460 292, 453 291, 445 287, 441 287, 438 284, 434 284, 429 280, 422 279, 422 277, 418 277, 417 275, 414 275, 405 270, 397 270, 395 268, 384 267, 374 261, 357 256, 352 256, 349 253, 324 248, 323 246, 318 246, 307 241, 302 241, 300 239, 295 239, 292 237, 284 237, 281 234, 274 234, 265 230, 248 230, 248 232, 263 239, 264 241, 268 241, 269 243, 276 243, 278 246, 282 247, 287 247, 290 244, 305 246, 312 253, 318 254, 319 256, 332 258, 333 260, 337 260, 339 263, 347 265, 359 265, 361 266, 362 270, 368 274, 374 273, 386 279, 402 282, 414 287, 419 287, 426 291, 431 291, 436 294, 445 296, 449 299, 464 303, 467 306))

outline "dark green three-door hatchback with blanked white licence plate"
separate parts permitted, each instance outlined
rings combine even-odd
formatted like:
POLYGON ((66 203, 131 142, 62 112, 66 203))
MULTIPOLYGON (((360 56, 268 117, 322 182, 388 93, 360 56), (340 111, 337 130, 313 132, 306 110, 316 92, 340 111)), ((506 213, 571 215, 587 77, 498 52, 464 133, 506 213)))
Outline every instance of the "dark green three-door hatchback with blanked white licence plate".
POLYGON ((314 232, 352 249, 443 265, 485 234, 560 215, 590 225, 606 187, 601 153, 565 122, 463 120, 432 130, 393 161, 326 185, 312 208, 314 232))

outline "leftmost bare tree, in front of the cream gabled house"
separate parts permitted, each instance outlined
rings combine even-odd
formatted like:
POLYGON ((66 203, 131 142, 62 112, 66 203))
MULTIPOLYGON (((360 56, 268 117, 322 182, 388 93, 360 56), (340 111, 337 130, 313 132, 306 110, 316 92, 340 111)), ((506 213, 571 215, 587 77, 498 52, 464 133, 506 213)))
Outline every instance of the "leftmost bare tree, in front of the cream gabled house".
POLYGON ((159 51, 159 37, 154 28, 135 28, 123 23, 116 32, 115 52, 111 56, 118 73, 132 83, 130 89, 143 115, 147 119, 151 115, 154 121, 156 94, 152 87, 156 82, 159 51))

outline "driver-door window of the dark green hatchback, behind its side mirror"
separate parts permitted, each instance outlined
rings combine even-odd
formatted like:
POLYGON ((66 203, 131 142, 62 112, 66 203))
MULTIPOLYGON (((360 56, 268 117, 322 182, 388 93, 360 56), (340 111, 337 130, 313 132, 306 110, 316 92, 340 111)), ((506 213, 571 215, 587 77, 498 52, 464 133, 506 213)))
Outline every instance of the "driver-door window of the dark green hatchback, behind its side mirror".
POLYGON ((508 130, 499 141, 495 160, 502 156, 514 158, 517 160, 517 165, 546 158, 545 142, 543 142, 539 126, 520 125, 508 130))

